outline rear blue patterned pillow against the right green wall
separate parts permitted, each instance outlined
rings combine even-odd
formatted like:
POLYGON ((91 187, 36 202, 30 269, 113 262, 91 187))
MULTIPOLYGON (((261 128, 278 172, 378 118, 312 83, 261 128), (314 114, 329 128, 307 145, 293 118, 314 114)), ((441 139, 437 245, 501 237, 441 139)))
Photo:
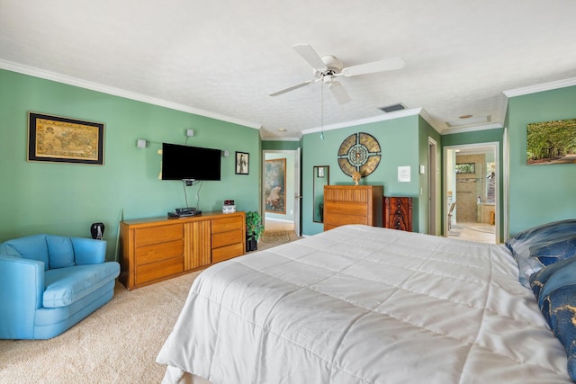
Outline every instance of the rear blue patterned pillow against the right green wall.
POLYGON ((530 276, 545 265, 576 256, 576 219, 554 221, 524 230, 506 241, 516 259, 519 281, 530 288, 530 276))

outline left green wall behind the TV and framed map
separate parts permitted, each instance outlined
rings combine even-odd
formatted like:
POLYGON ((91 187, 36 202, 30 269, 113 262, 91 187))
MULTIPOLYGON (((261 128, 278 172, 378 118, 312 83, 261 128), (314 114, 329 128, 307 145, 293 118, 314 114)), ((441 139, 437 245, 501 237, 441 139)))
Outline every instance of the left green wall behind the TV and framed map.
POLYGON ((116 255, 119 221, 166 216, 186 205, 181 182, 158 180, 161 142, 229 150, 222 180, 186 187, 190 206, 259 210, 261 173, 257 129, 141 103, 33 76, 0 70, 0 241, 37 233, 89 237, 90 224, 106 226, 108 259, 116 255), (105 123, 104 165, 26 161, 28 112, 105 123), (136 140, 149 140, 136 147, 136 140), (235 151, 250 154, 250 173, 235 174, 235 151), (199 201, 198 201, 199 198, 199 201))

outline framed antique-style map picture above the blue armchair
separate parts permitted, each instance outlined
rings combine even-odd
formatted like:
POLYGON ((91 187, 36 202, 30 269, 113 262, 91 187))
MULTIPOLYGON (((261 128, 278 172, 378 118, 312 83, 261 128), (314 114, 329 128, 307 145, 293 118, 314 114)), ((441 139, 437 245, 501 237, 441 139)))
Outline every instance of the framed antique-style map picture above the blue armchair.
POLYGON ((103 165, 104 124, 30 112, 28 161, 103 165))

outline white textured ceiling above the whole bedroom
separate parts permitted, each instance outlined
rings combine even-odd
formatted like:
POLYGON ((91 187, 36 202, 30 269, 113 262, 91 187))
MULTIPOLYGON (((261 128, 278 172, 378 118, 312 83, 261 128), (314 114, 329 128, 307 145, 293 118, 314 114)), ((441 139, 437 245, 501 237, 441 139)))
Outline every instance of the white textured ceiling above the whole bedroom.
POLYGON ((378 119, 393 103, 446 132, 465 114, 502 124, 504 91, 576 78, 574 15, 576 0, 0 0, 0 67, 261 127, 263 138, 378 119), (295 44, 345 67, 406 66, 340 77, 344 105, 329 92, 320 103, 320 83, 270 97, 311 79, 295 44))

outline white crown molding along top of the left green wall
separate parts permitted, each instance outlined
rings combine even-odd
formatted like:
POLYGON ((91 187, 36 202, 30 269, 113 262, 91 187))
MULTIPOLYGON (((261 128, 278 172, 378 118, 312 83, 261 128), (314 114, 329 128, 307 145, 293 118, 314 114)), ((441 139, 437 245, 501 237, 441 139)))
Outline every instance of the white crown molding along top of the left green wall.
POLYGON ((108 86, 108 85, 101 85, 101 84, 85 81, 85 80, 82 80, 82 79, 79 79, 76 77, 60 75, 58 73, 49 72, 49 71, 46 71, 44 69, 39 69, 36 67, 23 66, 21 64, 16 64, 16 63, 1 60, 1 59, 0 59, 0 69, 6 69, 8 71, 18 72, 18 73, 21 73, 23 75, 40 77, 40 78, 43 78, 46 80, 55 81, 57 83, 73 85, 73 86, 77 86, 80 88, 89 89, 91 91, 102 92, 103 94, 112 94, 114 96, 123 97, 125 99, 135 100, 135 101, 142 102, 142 103, 153 104, 153 105, 157 105, 160 107, 169 108, 169 109, 175 110, 175 111, 189 112, 189 113, 208 117, 208 118, 215 119, 215 120, 227 121, 227 122, 242 125, 242 126, 245 126, 248 128, 260 129, 262 127, 261 124, 257 124, 257 123, 252 122, 252 121, 243 121, 243 120, 236 119, 236 118, 233 118, 230 116, 222 115, 220 113, 202 111, 200 109, 193 108, 193 107, 190 107, 188 105, 167 102, 166 100, 157 99, 155 97, 146 96, 144 94, 135 94, 135 93, 125 91, 125 90, 120 89, 120 88, 114 88, 114 87, 108 86))

